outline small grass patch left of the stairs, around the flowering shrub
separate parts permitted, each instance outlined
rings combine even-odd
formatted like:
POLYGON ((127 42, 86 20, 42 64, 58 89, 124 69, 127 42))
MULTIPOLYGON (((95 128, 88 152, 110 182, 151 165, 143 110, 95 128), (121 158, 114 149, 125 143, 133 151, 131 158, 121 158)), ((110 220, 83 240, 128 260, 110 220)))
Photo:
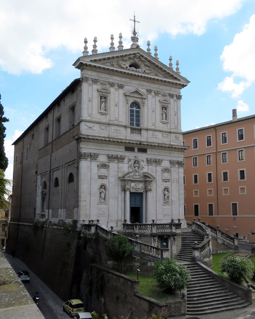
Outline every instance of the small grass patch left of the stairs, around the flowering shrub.
MULTIPOLYGON (((131 277, 132 279, 137 279, 136 274, 134 273, 127 273, 125 275, 131 277)), ((155 299, 162 303, 181 298, 179 292, 176 292, 176 294, 164 293, 161 289, 159 289, 156 286, 155 279, 152 275, 139 275, 138 280, 140 282, 139 293, 146 297, 155 299)))

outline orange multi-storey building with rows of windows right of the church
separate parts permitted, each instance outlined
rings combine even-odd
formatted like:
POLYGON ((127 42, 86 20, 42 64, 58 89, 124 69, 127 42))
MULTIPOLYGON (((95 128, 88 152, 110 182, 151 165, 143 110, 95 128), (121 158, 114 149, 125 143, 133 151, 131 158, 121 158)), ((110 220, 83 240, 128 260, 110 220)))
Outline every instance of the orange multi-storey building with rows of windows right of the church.
POLYGON ((184 132, 184 211, 229 235, 255 236, 255 115, 184 132))

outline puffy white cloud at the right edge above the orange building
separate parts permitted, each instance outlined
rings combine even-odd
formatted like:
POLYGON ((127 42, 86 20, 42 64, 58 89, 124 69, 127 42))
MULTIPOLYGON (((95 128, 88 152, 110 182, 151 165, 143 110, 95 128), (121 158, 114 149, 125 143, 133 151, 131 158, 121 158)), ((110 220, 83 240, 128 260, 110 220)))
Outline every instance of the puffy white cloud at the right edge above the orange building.
POLYGON ((233 43, 224 47, 221 59, 223 69, 232 72, 231 77, 226 77, 219 84, 222 91, 232 92, 232 97, 238 97, 243 91, 255 82, 255 14, 250 22, 244 26, 242 32, 237 33, 233 43), (236 78, 243 81, 235 83, 236 78))

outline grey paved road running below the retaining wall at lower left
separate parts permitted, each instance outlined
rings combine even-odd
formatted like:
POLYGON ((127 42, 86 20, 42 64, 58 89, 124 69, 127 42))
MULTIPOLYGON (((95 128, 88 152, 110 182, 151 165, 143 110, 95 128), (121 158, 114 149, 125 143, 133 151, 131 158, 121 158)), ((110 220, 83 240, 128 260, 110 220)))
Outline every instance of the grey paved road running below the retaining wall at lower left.
POLYGON ((17 258, 5 254, 6 259, 12 266, 15 273, 19 270, 28 270, 30 283, 24 283, 29 295, 33 298, 36 291, 39 293, 39 309, 45 319, 67 319, 67 313, 63 312, 63 301, 49 289, 24 263, 17 258))

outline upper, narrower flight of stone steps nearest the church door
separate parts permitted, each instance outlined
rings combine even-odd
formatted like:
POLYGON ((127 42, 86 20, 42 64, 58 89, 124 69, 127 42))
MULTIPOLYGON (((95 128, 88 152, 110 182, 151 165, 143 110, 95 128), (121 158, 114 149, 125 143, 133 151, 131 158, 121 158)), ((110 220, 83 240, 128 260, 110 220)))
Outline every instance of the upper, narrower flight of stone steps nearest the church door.
POLYGON ((191 261, 193 255, 192 246, 197 241, 198 244, 202 243, 204 237, 198 233, 188 229, 181 233, 181 249, 177 255, 178 260, 191 261))

